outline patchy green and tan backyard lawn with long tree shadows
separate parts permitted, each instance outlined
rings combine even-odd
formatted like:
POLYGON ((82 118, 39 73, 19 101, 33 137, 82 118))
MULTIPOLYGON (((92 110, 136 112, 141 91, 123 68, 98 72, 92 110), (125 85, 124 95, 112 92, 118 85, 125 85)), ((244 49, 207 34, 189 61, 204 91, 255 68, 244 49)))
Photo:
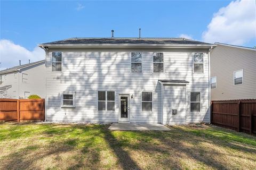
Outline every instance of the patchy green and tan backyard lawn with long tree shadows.
POLYGON ((256 137, 207 125, 0 124, 0 169, 255 169, 256 137))

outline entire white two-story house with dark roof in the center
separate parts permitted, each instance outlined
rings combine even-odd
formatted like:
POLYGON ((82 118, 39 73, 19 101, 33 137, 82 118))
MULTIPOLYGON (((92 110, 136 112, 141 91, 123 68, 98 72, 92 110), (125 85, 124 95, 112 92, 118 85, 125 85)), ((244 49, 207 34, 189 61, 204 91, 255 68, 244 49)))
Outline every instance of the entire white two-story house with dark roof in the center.
POLYGON ((185 38, 70 38, 46 52, 46 120, 210 122, 209 49, 185 38))

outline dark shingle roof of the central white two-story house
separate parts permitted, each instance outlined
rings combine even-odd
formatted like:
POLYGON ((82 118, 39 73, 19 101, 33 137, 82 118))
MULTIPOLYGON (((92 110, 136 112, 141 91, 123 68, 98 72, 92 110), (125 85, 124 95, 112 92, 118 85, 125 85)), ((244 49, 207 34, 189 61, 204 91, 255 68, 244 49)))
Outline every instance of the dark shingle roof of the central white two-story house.
POLYGON ((212 45, 186 38, 69 38, 41 45, 96 45, 96 44, 148 44, 148 45, 212 45))

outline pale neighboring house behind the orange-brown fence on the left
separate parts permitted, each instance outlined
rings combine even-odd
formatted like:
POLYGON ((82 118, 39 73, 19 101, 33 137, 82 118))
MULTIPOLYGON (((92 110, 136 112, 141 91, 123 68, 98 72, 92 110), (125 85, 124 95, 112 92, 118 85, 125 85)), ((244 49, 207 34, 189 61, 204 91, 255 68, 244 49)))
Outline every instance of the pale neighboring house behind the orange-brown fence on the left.
POLYGON ((0 98, 45 98, 45 60, 0 71, 0 98))

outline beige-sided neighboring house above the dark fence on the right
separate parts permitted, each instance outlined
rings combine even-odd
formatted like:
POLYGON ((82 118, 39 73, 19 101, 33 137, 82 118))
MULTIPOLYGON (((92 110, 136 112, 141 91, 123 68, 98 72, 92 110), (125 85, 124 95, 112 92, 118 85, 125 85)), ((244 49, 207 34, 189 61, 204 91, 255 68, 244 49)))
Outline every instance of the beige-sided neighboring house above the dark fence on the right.
POLYGON ((211 100, 256 98, 256 49, 215 43, 211 50, 211 100))

